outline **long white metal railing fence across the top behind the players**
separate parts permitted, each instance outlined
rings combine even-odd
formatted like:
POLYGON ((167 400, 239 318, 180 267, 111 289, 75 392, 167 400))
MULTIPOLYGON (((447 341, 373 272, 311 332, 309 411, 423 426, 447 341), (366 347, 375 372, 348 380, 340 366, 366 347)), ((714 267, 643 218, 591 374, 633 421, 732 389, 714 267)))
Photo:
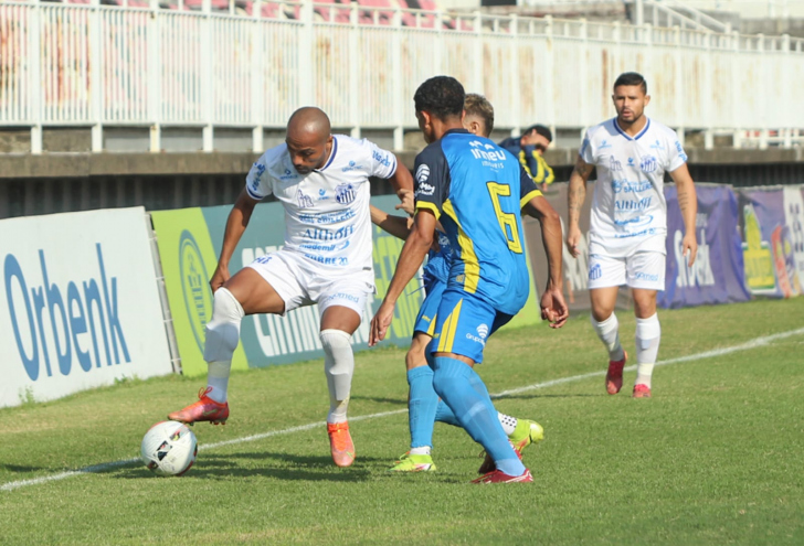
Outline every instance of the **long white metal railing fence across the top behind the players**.
MULTIPOLYGON (((625 71, 648 82, 649 115, 685 131, 764 135, 801 142, 804 41, 680 28, 368 8, 253 2, 251 15, 7 1, 0 3, 0 127, 195 127, 203 150, 221 128, 265 129, 315 104, 355 136, 385 129, 402 149, 416 128, 412 97, 449 74, 485 94, 497 127, 541 122, 580 131, 613 115, 611 86, 625 71), (271 6, 268 17, 264 6, 271 6), (272 13, 282 15, 269 17, 272 13), (343 15, 348 15, 345 19, 343 15), (749 131, 749 132, 747 132, 749 131)), ((187 0, 186 0, 187 1, 187 0)))

